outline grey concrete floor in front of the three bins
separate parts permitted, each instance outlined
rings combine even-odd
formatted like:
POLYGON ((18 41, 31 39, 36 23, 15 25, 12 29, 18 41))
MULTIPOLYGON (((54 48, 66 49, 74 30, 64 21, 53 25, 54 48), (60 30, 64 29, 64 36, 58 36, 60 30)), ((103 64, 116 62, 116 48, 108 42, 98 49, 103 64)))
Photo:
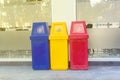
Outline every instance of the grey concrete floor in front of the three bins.
POLYGON ((89 70, 32 70, 31 66, 0 66, 0 80, 120 80, 120 66, 89 66, 89 70))

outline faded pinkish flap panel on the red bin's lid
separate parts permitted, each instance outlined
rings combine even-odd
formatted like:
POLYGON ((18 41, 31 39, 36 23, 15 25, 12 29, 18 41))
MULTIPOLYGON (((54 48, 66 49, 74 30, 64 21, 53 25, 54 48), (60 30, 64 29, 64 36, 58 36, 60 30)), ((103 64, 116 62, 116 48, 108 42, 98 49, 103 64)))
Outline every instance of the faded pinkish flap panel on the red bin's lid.
POLYGON ((72 33, 85 33, 83 24, 73 24, 73 26, 72 33))

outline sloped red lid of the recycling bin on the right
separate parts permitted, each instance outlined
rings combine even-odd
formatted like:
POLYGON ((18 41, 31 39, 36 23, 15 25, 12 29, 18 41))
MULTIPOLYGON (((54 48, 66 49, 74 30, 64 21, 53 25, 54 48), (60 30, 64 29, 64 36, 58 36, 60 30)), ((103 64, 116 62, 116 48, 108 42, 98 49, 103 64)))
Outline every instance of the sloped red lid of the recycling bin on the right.
POLYGON ((88 38, 85 21, 73 21, 71 23, 70 39, 88 38))

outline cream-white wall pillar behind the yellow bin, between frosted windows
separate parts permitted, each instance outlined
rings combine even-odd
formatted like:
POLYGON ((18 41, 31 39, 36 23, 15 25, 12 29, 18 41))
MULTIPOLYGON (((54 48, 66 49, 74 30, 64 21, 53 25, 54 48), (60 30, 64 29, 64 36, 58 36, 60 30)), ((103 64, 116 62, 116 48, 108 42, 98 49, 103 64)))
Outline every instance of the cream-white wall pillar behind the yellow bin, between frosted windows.
POLYGON ((67 23, 70 32, 71 21, 76 20, 76 0, 51 0, 52 22, 67 23))

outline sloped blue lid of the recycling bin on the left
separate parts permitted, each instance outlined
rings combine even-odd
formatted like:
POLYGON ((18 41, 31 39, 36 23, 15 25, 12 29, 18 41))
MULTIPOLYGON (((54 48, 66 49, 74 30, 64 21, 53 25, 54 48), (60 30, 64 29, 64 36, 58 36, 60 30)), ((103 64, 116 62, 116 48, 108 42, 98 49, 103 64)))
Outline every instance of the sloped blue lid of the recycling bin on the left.
POLYGON ((30 39, 42 39, 48 37, 47 22, 34 22, 30 39))

